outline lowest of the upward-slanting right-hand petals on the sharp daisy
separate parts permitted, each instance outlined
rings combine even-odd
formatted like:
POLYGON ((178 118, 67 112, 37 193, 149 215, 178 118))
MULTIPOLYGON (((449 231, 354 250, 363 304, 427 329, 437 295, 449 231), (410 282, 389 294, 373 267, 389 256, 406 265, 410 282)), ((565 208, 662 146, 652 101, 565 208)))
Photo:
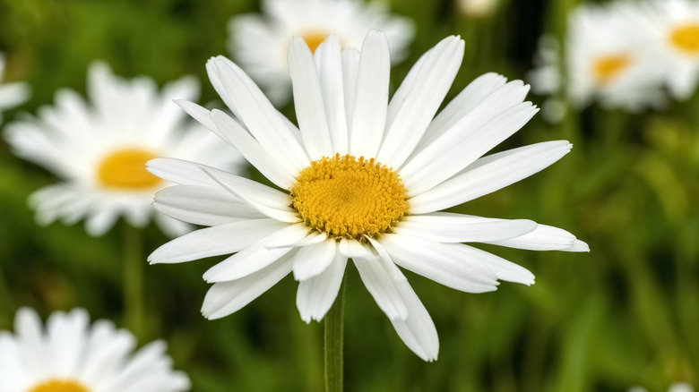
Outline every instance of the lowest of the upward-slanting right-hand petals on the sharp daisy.
POLYGON ((572 148, 567 141, 546 141, 480 158, 466 167, 462 174, 411 198, 410 213, 446 209, 495 192, 538 173, 563 158, 572 148))

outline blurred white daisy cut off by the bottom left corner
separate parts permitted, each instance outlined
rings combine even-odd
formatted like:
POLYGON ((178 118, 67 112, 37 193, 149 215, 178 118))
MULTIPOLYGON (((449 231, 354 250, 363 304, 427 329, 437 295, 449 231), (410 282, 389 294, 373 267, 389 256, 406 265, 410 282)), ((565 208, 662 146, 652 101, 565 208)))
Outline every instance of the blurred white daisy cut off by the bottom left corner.
POLYGON ((134 353, 136 339, 108 320, 90 324, 87 311, 53 312, 46 329, 23 308, 14 334, 0 331, 0 392, 179 392, 190 388, 172 370, 167 345, 155 341, 134 353))

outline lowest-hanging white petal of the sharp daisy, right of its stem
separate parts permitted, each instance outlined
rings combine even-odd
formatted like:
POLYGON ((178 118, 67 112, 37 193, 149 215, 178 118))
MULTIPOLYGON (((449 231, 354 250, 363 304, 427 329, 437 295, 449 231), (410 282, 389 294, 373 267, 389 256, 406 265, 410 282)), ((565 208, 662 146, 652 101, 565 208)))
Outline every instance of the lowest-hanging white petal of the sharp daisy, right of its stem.
POLYGON ((439 337, 435 322, 407 280, 397 281, 396 285, 408 307, 408 318, 391 320, 393 328, 403 343, 423 361, 435 361, 439 354, 439 337))

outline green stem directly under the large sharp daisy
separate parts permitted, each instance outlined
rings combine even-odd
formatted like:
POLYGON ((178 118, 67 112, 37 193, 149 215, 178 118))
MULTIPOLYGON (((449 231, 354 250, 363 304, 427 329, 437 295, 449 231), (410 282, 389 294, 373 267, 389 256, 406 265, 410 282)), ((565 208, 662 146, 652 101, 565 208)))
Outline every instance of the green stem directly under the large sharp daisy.
POLYGON ((342 279, 335 303, 325 315, 325 392, 342 391, 342 358, 345 312, 345 282, 342 279))

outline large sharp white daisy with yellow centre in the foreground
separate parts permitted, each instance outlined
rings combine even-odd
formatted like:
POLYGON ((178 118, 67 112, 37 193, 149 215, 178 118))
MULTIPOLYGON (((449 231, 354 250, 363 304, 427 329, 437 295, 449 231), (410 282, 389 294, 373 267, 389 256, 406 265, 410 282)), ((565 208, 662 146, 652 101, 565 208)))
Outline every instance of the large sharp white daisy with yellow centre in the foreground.
POLYGON ((280 190, 211 167, 155 159, 149 170, 178 183, 154 205, 171 217, 211 226, 154 251, 151 263, 235 253, 204 274, 213 286, 203 314, 241 309, 293 272, 306 322, 334 302, 348 259, 398 335, 422 359, 436 359, 436 328, 401 268, 470 293, 497 280, 534 283, 531 272, 464 243, 588 251, 552 226, 439 212, 539 172, 565 156, 548 141, 479 158, 537 108, 528 86, 488 73, 436 111, 462 62, 464 43, 444 38, 410 70, 389 101, 389 43, 368 33, 361 51, 332 36, 315 51, 289 46, 297 128, 255 83, 224 57, 207 64, 214 88, 234 113, 180 105, 236 147, 280 190), (436 117, 435 117, 436 115, 436 117), (433 118, 434 117, 434 118, 433 118))

